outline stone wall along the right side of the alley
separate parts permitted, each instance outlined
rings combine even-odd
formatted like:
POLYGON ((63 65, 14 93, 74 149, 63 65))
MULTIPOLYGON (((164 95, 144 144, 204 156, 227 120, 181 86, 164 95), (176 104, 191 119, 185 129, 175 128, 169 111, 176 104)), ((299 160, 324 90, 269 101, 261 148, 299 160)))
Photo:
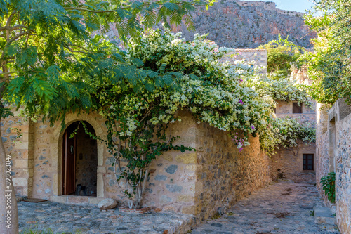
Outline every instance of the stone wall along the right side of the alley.
POLYGON ((351 107, 339 99, 317 112, 317 188, 326 200, 320 178, 336 172, 336 221, 341 233, 351 233, 351 107))

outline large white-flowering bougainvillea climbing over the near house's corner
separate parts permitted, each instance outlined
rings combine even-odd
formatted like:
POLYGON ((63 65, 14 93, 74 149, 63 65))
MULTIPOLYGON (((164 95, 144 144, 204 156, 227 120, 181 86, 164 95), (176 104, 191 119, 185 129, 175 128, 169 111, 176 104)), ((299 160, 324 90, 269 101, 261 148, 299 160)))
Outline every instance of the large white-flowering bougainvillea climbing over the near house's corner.
POLYGON ((274 102, 244 82, 256 76, 251 67, 219 62, 229 51, 199 35, 185 41, 180 33, 150 30, 119 53, 122 63, 139 70, 143 86, 135 89, 126 71, 97 83, 96 108, 107 119, 107 148, 116 158, 119 186, 130 207, 140 207, 147 167, 155 157, 167 150, 193 150, 166 136, 168 124, 181 121, 180 109, 189 110, 198 123, 227 131, 239 150, 252 134, 262 136, 261 145, 272 151, 266 145, 276 141, 274 102))

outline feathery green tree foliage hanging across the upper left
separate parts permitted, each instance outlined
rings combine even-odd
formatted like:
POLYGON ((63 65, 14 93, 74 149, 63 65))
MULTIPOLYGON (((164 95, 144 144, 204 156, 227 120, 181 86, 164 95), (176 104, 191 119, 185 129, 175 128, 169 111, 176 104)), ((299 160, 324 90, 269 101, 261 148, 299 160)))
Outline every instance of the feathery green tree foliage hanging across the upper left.
MULTIPOLYGON (((135 89, 143 76, 126 63, 112 41, 137 39, 159 22, 190 28, 192 11, 202 1, 0 1, 0 96, 27 115, 63 120, 67 111, 89 110, 91 80, 126 77, 135 89), (111 25, 119 38, 107 40, 111 25), (98 30, 98 34, 97 34, 98 30), (95 35, 95 36, 94 36, 95 35)), ((208 3, 210 4, 210 3, 208 3)), ((1 117, 8 116, 1 110, 1 117)))

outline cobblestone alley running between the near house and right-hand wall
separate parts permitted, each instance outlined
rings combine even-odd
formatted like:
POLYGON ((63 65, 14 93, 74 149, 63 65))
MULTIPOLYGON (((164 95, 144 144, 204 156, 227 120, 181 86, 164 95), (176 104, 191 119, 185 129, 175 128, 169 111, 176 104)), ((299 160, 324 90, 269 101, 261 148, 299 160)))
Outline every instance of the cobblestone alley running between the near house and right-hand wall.
POLYGON ((339 233, 336 226, 317 225, 313 207, 322 207, 317 189, 308 183, 274 183, 237 202, 219 219, 209 219, 192 234, 339 233))

